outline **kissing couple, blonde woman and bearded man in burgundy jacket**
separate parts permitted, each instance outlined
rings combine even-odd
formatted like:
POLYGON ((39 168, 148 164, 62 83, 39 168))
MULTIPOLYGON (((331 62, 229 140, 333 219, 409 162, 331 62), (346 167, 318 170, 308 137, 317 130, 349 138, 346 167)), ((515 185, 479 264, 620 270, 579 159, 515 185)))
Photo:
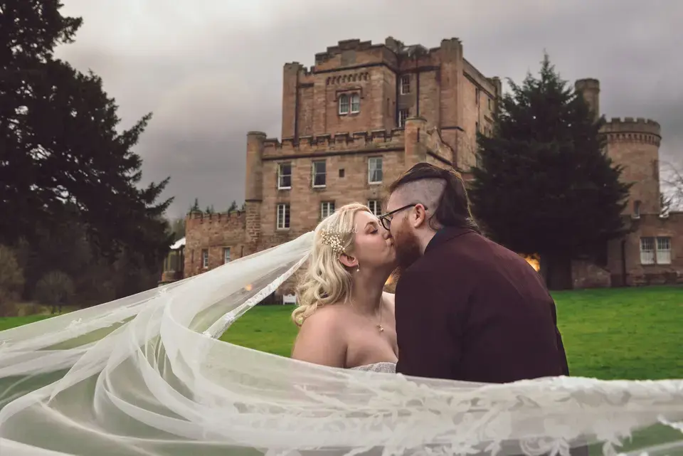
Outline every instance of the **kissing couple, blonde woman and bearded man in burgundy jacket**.
POLYGON ((480 233, 460 174, 420 163, 388 193, 380 217, 351 203, 315 229, 292 358, 485 383, 567 376, 554 300, 480 233), (383 291, 392 273, 395 295, 383 291))

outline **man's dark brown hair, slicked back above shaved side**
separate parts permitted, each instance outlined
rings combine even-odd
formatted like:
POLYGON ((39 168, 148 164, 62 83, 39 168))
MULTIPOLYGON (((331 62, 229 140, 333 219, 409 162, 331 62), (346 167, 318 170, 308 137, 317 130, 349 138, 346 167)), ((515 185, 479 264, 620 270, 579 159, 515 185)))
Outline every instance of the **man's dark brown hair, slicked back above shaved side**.
POLYGON ((428 208, 433 211, 433 218, 436 219, 440 226, 470 228, 477 231, 477 233, 481 233, 470 210, 470 199, 467 198, 465 181, 462 180, 462 176, 455 169, 440 168, 424 162, 418 163, 396 179, 389 186, 388 191, 391 194, 406 184, 428 180, 444 182, 443 191, 438 197, 437 206, 435 208, 428 208))

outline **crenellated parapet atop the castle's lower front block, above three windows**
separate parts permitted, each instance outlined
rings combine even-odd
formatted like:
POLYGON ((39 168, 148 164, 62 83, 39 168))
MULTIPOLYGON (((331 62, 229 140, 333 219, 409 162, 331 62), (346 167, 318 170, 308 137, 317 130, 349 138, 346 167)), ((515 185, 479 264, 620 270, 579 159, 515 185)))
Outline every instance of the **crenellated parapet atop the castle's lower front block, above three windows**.
POLYGON ((332 152, 334 150, 378 150, 403 147, 405 132, 403 128, 391 130, 376 129, 370 132, 321 134, 302 136, 299 142, 294 138, 268 138, 263 141, 263 156, 332 152))

